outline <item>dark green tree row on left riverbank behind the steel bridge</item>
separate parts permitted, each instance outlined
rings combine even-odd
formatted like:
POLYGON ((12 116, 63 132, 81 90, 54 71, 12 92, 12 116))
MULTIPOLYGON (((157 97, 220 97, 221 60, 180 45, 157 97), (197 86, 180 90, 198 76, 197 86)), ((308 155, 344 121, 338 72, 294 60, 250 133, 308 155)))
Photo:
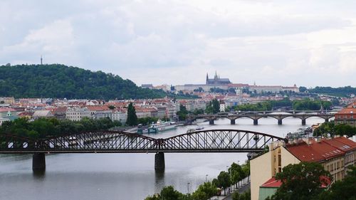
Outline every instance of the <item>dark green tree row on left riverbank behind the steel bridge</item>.
POLYGON ((8 133, 21 137, 41 139, 75 132, 108 130, 111 127, 119 125, 120 122, 112 122, 108 117, 100 120, 83 118, 83 120, 79 122, 57 120, 56 118, 39 118, 33 122, 28 122, 28 120, 24 118, 19 118, 12 122, 4 122, 4 124, 0 126, 0 134, 8 133))

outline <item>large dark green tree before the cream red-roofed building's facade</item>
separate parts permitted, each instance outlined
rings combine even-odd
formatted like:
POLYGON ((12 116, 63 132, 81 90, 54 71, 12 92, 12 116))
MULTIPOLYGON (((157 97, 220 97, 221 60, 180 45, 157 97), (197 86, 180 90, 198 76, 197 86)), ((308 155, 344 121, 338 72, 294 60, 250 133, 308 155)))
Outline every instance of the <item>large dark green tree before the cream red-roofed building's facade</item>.
POLYGON ((273 200, 307 200, 318 196, 323 189, 322 184, 328 185, 330 173, 323 166, 315 162, 300 162, 288 164, 282 172, 276 174, 276 180, 281 181, 281 186, 276 194, 271 196, 273 200))

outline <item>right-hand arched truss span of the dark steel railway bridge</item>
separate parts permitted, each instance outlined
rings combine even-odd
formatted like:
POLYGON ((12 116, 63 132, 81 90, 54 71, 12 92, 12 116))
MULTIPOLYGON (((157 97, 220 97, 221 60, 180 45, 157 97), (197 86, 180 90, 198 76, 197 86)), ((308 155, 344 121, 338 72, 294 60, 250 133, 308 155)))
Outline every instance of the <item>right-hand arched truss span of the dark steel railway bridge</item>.
POLYGON ((201 130, 164 139, 164 152, 263 152, 281 137, 248 130, 201 130))

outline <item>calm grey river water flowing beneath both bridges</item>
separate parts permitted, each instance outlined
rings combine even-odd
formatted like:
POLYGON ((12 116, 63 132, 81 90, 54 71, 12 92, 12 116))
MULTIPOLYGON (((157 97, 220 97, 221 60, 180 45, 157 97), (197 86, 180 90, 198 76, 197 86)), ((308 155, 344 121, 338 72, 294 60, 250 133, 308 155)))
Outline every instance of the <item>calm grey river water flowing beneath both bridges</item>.
MULTIPOLYGON (((236 125, 220 119, 215 125, 201 122, 206 130, 239 129, 284 137, 288 132, 324 120, 310 117, 302 126, 298 118, 288 117, 283 125, 273 118, 238 119, 236 125)), ((189 128, 149 135, 171 137, 189 128)), ((166 169, 155 172, 155 154, 46 154, 46 172, 33 174, 32 155, 0 154, 0 199, 145 199, 172 185, 183 193, 194 191, 205 179, 214 179, 232 162, 245 162, 246 153, 166 153, 166 169), (207 176, 206 176, 207 174, 207 176), (189 184, 188 184, 189 183, 189 184)))

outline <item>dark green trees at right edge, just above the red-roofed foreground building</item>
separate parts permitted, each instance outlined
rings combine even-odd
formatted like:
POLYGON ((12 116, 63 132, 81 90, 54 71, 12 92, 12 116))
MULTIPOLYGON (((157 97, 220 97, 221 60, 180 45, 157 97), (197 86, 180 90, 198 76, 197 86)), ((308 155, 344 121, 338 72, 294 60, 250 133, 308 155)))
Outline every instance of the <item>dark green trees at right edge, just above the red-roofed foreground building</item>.
POLYGON ((325 122, 320 127, 316 128, 313 132, 314 136, 323 136, 323 137, 334 137, 335 135, 346 135, 347 137, 352 137, 356 135, 356 127, 350 125, 335 125, 332 122, 325 122))

